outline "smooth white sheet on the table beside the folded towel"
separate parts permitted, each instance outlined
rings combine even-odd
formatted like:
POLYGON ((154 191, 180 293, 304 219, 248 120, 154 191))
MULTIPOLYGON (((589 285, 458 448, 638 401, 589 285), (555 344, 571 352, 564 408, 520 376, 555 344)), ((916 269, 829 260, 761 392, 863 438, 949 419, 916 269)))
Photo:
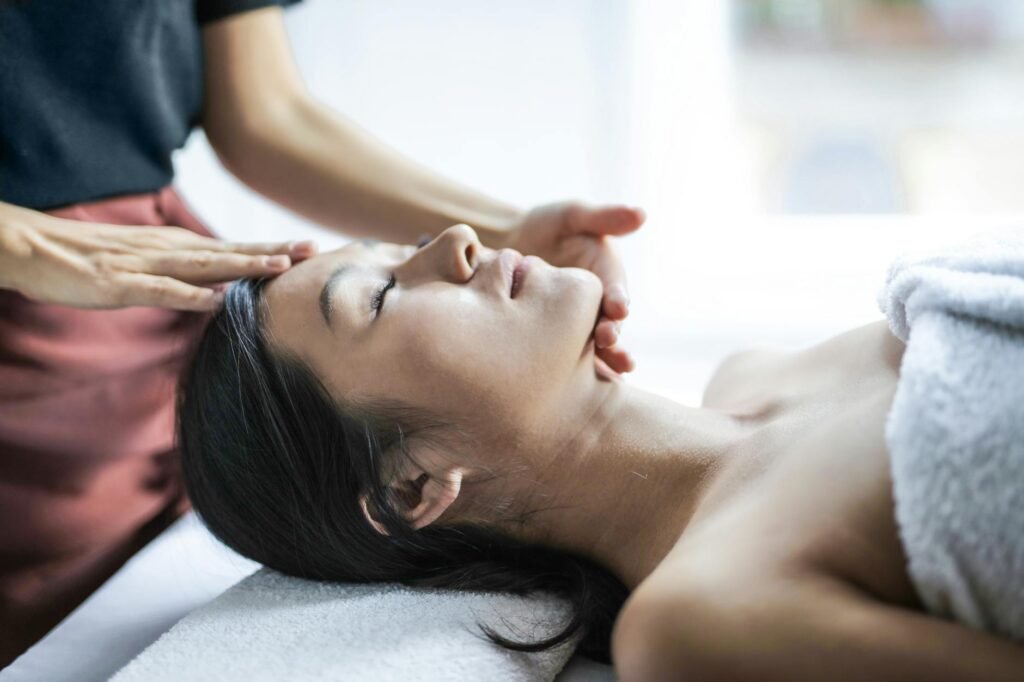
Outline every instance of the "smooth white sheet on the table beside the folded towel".
MULTIPOLYGON (((132 557, 52 632, 0 671, 0 682, 108 680, 190 611, 256 570, 193 514, 132 557)), ((610 682, 610 666, 577 655, 556 682, 610 682)))

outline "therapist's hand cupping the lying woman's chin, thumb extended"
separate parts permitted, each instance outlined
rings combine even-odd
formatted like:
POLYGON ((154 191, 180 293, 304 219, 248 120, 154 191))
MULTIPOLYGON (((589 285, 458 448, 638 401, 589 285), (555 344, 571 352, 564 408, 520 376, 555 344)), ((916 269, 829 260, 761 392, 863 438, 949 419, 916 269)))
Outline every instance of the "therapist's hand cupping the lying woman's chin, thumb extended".
POLYGON ((643 210, 627 206, 589 207, 580 202, 539 206, 513 227, 509 246, 560 267, 583 267, 604 285, 601 313, 594 328, 599 374, 630 372, 633 357, 618 345, 623 319, 629 314, 626 272, 608 241, 636 231, 646 219, 643 210))

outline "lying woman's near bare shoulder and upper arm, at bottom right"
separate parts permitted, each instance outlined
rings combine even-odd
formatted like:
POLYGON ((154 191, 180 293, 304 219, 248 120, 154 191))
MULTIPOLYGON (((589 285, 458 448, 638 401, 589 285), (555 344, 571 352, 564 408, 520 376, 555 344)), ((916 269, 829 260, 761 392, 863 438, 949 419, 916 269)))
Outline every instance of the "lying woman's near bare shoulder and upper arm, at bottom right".
MULTIPOLYGON (((632 598, 631 598, 632 599, 632 598)), ((1020 680, 1019 643, 813 569, 645 592, 612 633, 622 682, 1020 680)))

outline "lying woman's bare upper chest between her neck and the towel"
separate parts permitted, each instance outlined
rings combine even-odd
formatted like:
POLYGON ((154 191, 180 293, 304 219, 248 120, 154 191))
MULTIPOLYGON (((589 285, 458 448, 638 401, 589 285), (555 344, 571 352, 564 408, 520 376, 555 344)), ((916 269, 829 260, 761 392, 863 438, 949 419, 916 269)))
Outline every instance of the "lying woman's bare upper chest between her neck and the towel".
MULTIPOLYGON (((888 335, 881 326, 860 328, 784 367, 752 368, 746 389, 742 373, 733 375, 735 404, 772 416, 709 492, 677 546, 680 557, 731 554, 730 563, 760 573, 824 571, 883 601, 920 607, 885 442, 901 355, 888 335)), ((720 399, 728 393, 720 390, 720 399)))

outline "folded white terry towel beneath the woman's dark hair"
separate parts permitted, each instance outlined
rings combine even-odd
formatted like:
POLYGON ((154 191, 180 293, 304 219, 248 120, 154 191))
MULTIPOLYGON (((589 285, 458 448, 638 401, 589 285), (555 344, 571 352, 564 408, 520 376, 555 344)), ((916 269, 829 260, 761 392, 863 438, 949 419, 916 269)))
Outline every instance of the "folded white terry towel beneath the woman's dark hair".
POLYGON ((519 641, 556 634, 554 597, 349 585, 262 568, 164 634, 114 682, 199 680, 553 680, 577 642, 509 651, 477 623, 519 641))

